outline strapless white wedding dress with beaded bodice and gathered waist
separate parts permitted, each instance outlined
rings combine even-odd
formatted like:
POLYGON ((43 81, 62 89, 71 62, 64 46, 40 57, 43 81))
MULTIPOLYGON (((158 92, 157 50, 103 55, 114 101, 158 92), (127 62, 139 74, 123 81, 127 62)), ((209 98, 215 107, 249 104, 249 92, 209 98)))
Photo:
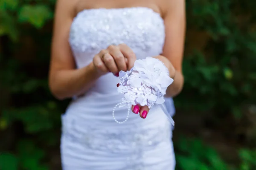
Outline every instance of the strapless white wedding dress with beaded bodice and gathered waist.
MULTIPOLYGON (((70 28, 77 68, 111 44, 127 44, 137 59, 156 56, 164 40, 163 19, 145 7, 85 9, 70 28)), ((122 99, 118 82, 112 73, 100 77, 84 96, 74 97, 62 115, 63 170, 174 170, 172 125, 160 106, 154 105, 146 119, 131 112, 124 124, 113 120, 112 110, 122 99)), ((172 116, 171 98, 166 107, 172 116)), ((115 116, 123 121, 127 108, 116 109, 115 116)))

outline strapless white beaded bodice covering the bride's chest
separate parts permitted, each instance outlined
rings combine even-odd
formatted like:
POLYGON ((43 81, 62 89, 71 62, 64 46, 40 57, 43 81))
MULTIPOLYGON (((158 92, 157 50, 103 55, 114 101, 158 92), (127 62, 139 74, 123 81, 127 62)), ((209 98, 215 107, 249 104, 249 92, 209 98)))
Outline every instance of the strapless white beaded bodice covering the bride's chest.
POLYGON ((86 9, 70 28, 70 45, 79 68, 100 50, 121 43, 132 48, 138 59, 159 55, 164 38, 160 14, 145 7, 86 9))

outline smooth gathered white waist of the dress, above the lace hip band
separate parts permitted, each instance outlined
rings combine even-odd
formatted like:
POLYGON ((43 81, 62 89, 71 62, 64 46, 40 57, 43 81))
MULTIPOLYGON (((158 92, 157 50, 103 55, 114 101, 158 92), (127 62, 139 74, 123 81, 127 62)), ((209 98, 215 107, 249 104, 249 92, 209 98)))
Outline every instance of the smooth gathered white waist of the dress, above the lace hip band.
MULTIPOLYGON (((80 96, 70 103, 66 110, 66 115, 74 116, 84 123, 93 123, 100 125, 118 125, 112 117, 113 108, 119 102, 122 102, 122 94, 117 92, 113 84, 118 82, 118 78, 113 75, 105 75, 97 80, 93 88, 86 94, 80 96), (108 81, 107 81, 108 80, 108 81), (110 81, 111 80, 111 81, 110 81), (101 88, 100 88, 101 85, 101 88), (104 87, 104 88, 102 88, 104 87)), ((174 113, 174 105, 172 99, 166 100, 170 113, 174 113)), ((117 107, 115 109, 115 117, 122 122, 126 119, 127 111, 130 111, 128 121, 125 124, 154 124, 155 122, 167 119, 160 106, 154 105, 148 113, 146 119, 140 118, 138 114, 131 111, 131 106, 117 107)), ((171 116, 172 116, 171 115, 171 116)))

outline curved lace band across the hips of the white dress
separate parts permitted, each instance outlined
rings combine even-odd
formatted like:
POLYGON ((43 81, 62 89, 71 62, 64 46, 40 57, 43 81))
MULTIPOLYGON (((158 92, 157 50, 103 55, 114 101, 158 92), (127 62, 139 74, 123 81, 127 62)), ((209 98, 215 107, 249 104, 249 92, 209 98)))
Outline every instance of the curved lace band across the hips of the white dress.
MULTIPOLYGON (((84 128, 84 127, 83 127, 84 128)), ((133 127, 140 128, 139 126, 133 127)), ((81 132, 73 126, 71 129, 63 127, 62 133, 70 140, 80 142, 84 147, 94 150, 105 150, 112 153, 133 152, 139 147, 154 147, 166 140, 170 135, 170 130, 164 127, 142 129, 142 130, 105 130, 86 127, 86 131, 81 132), (161 133, 159 133, 161 132, 161 133)))

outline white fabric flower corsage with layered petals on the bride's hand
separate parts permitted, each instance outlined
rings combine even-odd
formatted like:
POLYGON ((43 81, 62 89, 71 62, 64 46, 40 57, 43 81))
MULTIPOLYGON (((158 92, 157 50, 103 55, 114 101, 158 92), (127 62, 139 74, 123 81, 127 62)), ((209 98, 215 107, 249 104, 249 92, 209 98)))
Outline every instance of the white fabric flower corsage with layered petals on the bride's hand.
POLYGON ((119 72, 119 78, 122 82, 117 91, 124 95, 123 100, 149 108, 165 101, 163 96, 173 82, 163 62, 152 57, 136 60, 131 71, 119 72))

